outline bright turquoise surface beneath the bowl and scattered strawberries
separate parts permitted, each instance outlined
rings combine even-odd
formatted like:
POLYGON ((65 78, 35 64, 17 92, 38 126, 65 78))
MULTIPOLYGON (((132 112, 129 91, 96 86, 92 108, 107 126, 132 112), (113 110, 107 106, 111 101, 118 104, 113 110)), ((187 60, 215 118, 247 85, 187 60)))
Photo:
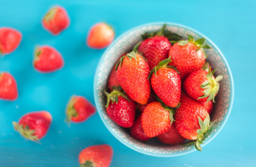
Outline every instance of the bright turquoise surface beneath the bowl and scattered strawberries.
POLYGON ((0 27, 23 33, 20 47, 0 58, 0 71, 17 79, 19 98, 0 102, 0 166, 79 166, 80 150, 107 143, 114 148, 112 166, 255 166, 256 112, 254 88, 256 1, 0 1, 0 27), (70 27, 59 36, 40 21, 54 4, 68 10, 70 27), (67 127, 70 95, 93 101, 93 77, 103 50, 85 46, 86 33, 96 22, 108 22, 116 37, 140 24, 176 22, 203 33, 223 52, 234 78, 234 104, 223 130, 202 152, 159 158, 130 150, 108 132, 98 113, 82 124, 67 127), (66 65, 52 74, 33 70, 33 49, 51 45, 66 65), (47 110, 54 118, 42 145, 26 141, 11 122, 29 111, 47 110))

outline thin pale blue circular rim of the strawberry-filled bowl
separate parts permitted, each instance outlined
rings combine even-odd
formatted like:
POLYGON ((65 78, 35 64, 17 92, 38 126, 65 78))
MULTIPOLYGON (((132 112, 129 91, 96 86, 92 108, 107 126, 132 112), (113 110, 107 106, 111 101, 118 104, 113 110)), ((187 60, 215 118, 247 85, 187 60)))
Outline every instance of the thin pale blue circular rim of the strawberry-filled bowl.
POLYGON ((211 43, 211 45, 213 45, 214 49, 216 49, 218 51, 218 53, 220 54, 220 57, 223 59, 223 62, 225 63, 226 67, 227 67, 227 74, 229 75, 229 79, 230 79, 230 100, 229 100, 229 106, 227 109, 227 113, 225 115, 225 118, 222 122, 222 124, 220 125, 220 127, 218 127, 218 129, 216 129, 216 132, 211 136, 211 138, 207 138, 206 141, 204 141, 204 143, 201 145, 202 147, 204 147, 204 145, 206 145, 207 143, 209 143, 213 138, 215 138, 217 136, 217 134, 221 131, 221 129, 223 129, 224 125, 227 122, 227 119, 229 118, 229 115, 232 111, 232 106, 233 106, 233 101, 234 101, 234 81, 233 81, 233 77, 232 77, 232 72, 229 68, 229 65, 226 61, 225 56, 223 55, 223 53, 220 51, 220 49, 208 38, 206 37, 206 35, 203 35, 202 33, 199 33, 198 31, 195 31, 194 29, 191 29, 188 26, 183 26, 182 24, 176 24, 176 23, 172 23, 172 22, 152 22, 152 23, 148 23, 148 24, 142 24, 140 26, 135 26, 133 29, 130 29, 124 33, 122 33, 121 35, 119 35, 118 38, 116 38, 114 40, 114 42, 112 42, 112 44, 107 47, 107 49, 104 51, 103 55, 100 58, 100 61, 97 65, 96 68, 96 73, 95 73, 95 77, 94 77, 94 81, 93 81, 93 95, 94 95, 94 100, 96 103, 96 109, 98 111, 98 114, 100 115, 100 119, 103 121, 105 127, 107 127, 107 129, 110 131, 110 133, 121 143, 123 143, 123 145, 126 145, 128 148, 135 150, 137 152, 140 152, 142 154, 147 154, 147 155, 151 155, 153 157, 176 157, 176 156, 180 156, 183 154, 188 154, 190 152, 195 151, 195 148, 192 148, 190 150, 184 150, 183 152, 172 152, 171 154, 159 154, 159 153, 154 153, 154 152, 146 152, 144 150, 140 150, 139 148, 136 148, 134 145, 131 145, 130 143, 127 143, 125 141, 123 141, 122 138, 120 138, 115 132, 113 132, 113 130, 109 127, 109 125, 107 125, 107 122, 103 116, 103 114, 101 113, 100 106, 99 106, 99 100, 97 98, 97 90, 96 90, 96 81, 98 80, 98 73, 99 73, 99 69, 100 69, 100 65, 103 63, 105 55, 107 54, 108 51, 110 51, 110 49, 116 44, 117 41, 119 41, 121 38, 123 38, 124 36, 128 35, 130 32, 135 31, 137 29, 142 29, 146 26, 156 26, 156 25, 163 25, 163 24, 167 24, 170 26, 177 26, 177 27, 181 27, 183 29, 187 29, 189 31, 193 31, 193 33, 196 33, 199 36, 202 36, 204 38, 206 38, 206 40, 208 40, 209 43, 211 43))

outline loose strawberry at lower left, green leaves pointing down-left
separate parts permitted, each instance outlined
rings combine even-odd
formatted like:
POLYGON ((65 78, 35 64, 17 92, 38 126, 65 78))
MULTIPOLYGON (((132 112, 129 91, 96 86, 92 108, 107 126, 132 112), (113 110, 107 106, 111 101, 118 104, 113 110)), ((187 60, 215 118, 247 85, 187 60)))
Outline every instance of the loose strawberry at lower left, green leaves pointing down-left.
POLYGON ((52 116, 49 112, 36 111, 25 114, 18 123, 13 122, 13 126, 24 138, 38 142, 47 134, 51 123, 52 116))

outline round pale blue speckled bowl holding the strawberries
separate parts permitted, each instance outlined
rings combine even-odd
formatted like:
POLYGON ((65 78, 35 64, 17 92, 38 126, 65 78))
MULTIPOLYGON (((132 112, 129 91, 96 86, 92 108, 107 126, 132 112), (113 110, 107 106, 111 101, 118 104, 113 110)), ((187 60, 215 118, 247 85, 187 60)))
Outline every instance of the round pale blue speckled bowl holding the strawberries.
MULTIPOLYGON (((109 129, 121 143, 128 148, 143 154, 149 154, 156 157, 174 157, 193 152, 195 151, 195 148, 193 145, 163 145, 153 138, 146 142, 137 141, 130 136, 127 129, 119 127, 119 125, 116 125, 116 123, 108 118, 105 111, 106 97, 103 93, 103 90, 106 88, 107 78, 116 60, 122 54, 130 51, 137 42, 142 40, 140 35, 145 31, 159 30, 162 28, 163 24, 163 22, 159 22, 137 26, 135 29, 123 33, 123 35, 117 38, 112 45, 107 48, 100 59, 100 63, 98 63, 96 70, 94 79, 94 98, 100 118, 103 120, 107 129, 109 129)), ((186 33, 193 35, 195 39, 205 37, 201 33, 179 24, 167 23, 167 29, 183 36, 183 38, 187 38, 186 33)), ((202 147, 209 143, 220 130, 223 129, 231 112, 234 98, 232 74, 225 57, 209 38, 206 38, 206 44, 212 48, 206 50, 208 56, 206 61, 209 61, 214 69, 218 68, 216 75, 223 74, 224 78, 220 81, 220 90, 216 97, 216 104, 211 115, 211 120, 216 120, 216 123, 213 125, 213 130, 202 144, 202 147)))

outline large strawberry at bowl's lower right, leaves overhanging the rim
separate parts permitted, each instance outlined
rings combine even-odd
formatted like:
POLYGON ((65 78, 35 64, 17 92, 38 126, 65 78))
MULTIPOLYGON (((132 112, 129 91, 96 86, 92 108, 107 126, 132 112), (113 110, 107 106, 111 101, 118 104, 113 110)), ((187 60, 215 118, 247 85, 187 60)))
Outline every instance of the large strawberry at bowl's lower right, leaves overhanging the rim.
POLYGON ((195 148, 201 151, 200 144, 210 134, 213 125, 204 106, 182 92, 181 105, 176 109, 174 118, 179 134, 189 140, 196 140, 195 148))

